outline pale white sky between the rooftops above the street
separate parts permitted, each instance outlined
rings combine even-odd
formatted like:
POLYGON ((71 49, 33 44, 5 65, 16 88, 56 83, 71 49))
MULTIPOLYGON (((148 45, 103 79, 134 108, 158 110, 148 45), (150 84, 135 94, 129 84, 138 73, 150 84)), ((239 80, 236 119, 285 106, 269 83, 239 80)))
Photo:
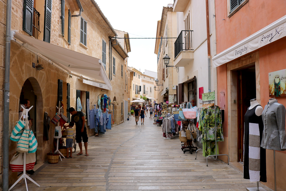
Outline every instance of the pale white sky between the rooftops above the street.
MULTIPOLYGON (((174 0, 95 0, 114 29, 129 33, 129 38, 156 38, 162 9, 174 0), (120 3, 119 3, 120 2, 120 3)), ((157 72, 155 39, 130 39, 128 66, 141 72, 157 72)))

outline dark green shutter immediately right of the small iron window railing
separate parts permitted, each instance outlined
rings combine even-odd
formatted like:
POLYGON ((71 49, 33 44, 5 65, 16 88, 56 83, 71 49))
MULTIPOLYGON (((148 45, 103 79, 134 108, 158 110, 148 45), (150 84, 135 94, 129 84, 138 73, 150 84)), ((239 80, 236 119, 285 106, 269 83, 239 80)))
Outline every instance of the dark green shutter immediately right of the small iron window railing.
POLYGON ((46 0, 45 5, 45 23, 44 23, 44 41, 50 42, 51 38, 51 19, 52 19, 52 0, 46 0))

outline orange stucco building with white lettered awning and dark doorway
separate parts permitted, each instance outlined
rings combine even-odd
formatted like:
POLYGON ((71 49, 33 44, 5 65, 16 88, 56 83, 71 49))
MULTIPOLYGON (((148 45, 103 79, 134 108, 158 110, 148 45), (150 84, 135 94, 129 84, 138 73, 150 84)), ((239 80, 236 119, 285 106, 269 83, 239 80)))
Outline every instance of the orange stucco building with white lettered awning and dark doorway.
MULTIPOLYGON (((269 72, 286 69, 286 1, 215 1, 215 9, 217 55, 212 60, 217 67, 218 105, 225 102, 225 141, 219 143, 219 152, 227 153, 230 165, 243 170, 244 115, 250 99, 256 98, 264 108, 273 98, 269 72)), ((286 97, 275 98, 286 106, 286 97)), ((275 154, 277 190, 282 191, 286 190, 286 151, 275 154)), ((227 162, 226 156, 220 158, 227 162)), ((273 150, 266 150, 266 168, 263 184, 274 190, 273 150)))

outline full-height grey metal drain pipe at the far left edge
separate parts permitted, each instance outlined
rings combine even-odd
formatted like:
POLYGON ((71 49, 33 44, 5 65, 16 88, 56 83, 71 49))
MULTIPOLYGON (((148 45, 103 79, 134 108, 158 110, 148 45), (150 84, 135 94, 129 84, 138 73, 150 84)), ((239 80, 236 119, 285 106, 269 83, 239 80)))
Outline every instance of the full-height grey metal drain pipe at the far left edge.
POLYGON ((10 49, 11 49, 11 5, 6 2, 6 39, 5 39, 5 79, 4 79, 4 111, 3 111, 3 191, 9 187, 9 94, 10 94, 10 49))

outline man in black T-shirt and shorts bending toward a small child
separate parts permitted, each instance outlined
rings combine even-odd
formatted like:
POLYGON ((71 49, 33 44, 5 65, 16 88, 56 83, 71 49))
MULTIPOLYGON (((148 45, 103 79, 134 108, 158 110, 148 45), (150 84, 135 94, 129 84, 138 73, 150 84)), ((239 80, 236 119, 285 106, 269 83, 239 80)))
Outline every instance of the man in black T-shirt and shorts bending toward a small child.
MULTIPOLYGON (((82 155, 82 141, 84 142, 84 148, 86 149, 86 156, 88 154, 88 134, 86 133, 86 124, 84 119, 84 113, 76 111, 73 107, 69 108, 69 113, 72 114, 71 121, 76 124, 76 142, 80 147, 80 152, 77 155, 82 155)), ((67 125, 66 127, 69 127, 67 125)))

